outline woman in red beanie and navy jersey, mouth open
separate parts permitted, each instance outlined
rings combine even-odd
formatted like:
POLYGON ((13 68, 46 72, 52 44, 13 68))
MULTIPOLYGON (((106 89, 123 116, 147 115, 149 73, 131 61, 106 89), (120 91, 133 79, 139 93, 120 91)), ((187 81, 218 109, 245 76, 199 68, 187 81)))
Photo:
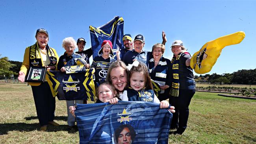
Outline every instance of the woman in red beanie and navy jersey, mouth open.
MULTIPOLYGON (((95 85, 98 87, 101 81, 105 81, 107 78, 108 68, 116 61, 113 58, 113 45, 109 40, 104 40, 101 44, 101 49, 98 52, 98 56, 93 59, 91 68, 95 68, 95 85)), ((117 60, 120 60, 119 51, 117 51, 117 60)))

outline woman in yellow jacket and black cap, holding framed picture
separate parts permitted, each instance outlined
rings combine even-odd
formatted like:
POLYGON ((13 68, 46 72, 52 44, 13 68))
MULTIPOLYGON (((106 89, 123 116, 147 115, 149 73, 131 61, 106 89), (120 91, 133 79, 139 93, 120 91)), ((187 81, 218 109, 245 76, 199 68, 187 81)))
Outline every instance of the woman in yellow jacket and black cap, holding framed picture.
MULTIPOLYGON (((48 32, 40 28, 35 33, 37 42, 28 46, 25 50, 22 66, 20 67, 18 79, 24 82, 30 66, 45 66, 47 70, 55 70, 58 64, 58 54, 54 48, 48 46, 48 32)), ((29 83, 32 88, 35 101, 37 117, 40 123, 40 130, 46 131, 47 125, 59 126, 54 122, 55 97, 47 81, 43 83, 29 83)))

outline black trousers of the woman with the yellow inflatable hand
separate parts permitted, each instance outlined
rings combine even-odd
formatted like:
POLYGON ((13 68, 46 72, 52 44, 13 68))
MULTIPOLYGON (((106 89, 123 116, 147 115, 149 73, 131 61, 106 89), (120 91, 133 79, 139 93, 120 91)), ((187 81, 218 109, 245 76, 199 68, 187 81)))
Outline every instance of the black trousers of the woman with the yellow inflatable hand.
POLYGON ((189 116, 189 104, 191 98, 195 94, 195 90, 180 89, 179 96, 169 98, 169 103, 175 107, 173 119, 171 122, 171 129, 177 129, 177 133, 182 134, 187 128, 187 120, 189 116))

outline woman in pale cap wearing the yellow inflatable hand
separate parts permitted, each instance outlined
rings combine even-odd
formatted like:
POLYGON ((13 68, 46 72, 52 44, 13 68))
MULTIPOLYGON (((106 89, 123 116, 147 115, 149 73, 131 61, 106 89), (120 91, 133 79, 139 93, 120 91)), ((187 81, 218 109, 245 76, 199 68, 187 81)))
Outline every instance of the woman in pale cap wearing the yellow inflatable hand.
POLYGON ((189 116, 189 103, 195 94, 195 80, 193 70, 189 66, 191 55, 186 51, 183 42, 176 40, 171 46, 173 59, 171 60, 172 87, 169 103, 175 107, 171 129, 177 129, 176 135, 181 135, 186 127, 189 116))

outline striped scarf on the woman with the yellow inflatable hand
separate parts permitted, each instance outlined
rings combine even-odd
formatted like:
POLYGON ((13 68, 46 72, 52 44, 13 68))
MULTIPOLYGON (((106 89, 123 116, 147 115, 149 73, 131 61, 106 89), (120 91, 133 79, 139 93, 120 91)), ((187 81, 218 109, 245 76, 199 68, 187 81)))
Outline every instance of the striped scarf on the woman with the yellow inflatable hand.
POLYGON ((180 61, 180 56, 182 55, 182 53, 178 54, 178 56, 176 57, 175 55, 173 55, 173 59, 171 60, 171 64, 173 66, 173 78, 172 78, 172 87, 171 87, 171 91, 170 91, 170 95, 171 96, 179 96, 179 87, 180 87, 180 83, 179 83, 179 61, 180 61))

